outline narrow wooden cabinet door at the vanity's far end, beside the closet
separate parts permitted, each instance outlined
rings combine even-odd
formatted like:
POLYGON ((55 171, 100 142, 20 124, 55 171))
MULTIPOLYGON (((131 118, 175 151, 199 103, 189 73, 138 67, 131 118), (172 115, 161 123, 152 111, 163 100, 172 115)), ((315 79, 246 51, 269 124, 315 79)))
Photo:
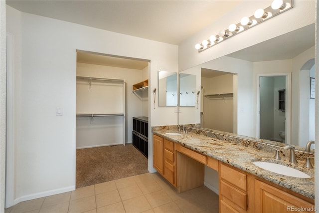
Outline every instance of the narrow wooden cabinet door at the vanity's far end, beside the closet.
POLYGON ((153 135, 153 167, 163 175, 164 139, 157 135, 153 135))

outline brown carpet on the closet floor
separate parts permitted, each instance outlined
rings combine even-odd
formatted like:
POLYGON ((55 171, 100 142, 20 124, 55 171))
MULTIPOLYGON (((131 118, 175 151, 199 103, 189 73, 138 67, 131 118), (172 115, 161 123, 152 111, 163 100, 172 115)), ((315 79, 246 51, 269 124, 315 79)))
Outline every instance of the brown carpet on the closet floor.
POLYGON ((148 173, 148 159, 132 144, 76 150, 76 188, 148 173))

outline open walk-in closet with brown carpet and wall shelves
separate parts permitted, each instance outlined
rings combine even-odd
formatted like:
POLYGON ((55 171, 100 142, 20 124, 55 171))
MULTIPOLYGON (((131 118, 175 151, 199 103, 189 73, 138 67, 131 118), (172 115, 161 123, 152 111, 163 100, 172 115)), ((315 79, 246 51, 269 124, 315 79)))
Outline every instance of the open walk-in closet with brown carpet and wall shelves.
POLYGON ((148 123, 148 88, 133 89, 149 61, 77 50, 76 64, 76 188, 147 173, 132 133, 136 117, 148 123))

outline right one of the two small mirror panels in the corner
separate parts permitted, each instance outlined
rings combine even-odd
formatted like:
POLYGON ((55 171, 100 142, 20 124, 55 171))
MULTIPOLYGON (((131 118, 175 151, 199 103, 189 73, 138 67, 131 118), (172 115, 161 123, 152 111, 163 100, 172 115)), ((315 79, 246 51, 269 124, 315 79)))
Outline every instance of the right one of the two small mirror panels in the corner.
POLYGON ((196 105, 196 75, 179 74, 179 106, 196 105))

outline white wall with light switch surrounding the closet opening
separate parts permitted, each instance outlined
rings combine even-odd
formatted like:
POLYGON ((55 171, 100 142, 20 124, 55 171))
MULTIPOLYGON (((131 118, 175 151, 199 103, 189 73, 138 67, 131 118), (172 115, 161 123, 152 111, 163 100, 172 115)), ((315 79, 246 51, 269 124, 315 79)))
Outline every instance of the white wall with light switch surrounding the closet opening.
MULTIPOLYGON (((12 192, 8 207, 75 189, 76 49, 150 60, 153 91, 158 70, 177 71, 177 46, 6 8, 17 63, 13 68, 16 128, 9 142, 15 147, 14 172, 13 186, 7 189, 12 192), (56 107, 63 108, 63 116, 55 116, 56 107)), ((153 103, 153 95, 149 97, 153 103)), ((148 111, 150 126, 177 123, 170 108, 149 106, 148 111)), ((149 142, 152 150, 152 138, 149 142)), ((150 156, 150 171, 152 164, 150 156)))

